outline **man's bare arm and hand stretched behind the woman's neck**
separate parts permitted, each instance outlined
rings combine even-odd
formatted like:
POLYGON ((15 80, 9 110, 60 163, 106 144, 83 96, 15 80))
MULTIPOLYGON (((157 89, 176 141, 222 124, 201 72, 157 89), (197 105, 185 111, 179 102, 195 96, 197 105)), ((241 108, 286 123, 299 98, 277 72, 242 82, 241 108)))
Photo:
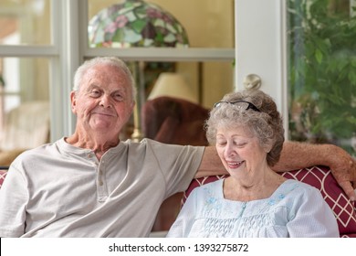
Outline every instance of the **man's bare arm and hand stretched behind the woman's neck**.
MULTIPOLYGON (((286 172, 313 165, 329 166, 340 187, 355 200, 356 161, 342 148, 333 144, 307 144, 285 142, 277 165, 272 167, 276 172, 286 172)), ((202 163, 195 177, 227 174, 214 146, 205 147, 202 163)))

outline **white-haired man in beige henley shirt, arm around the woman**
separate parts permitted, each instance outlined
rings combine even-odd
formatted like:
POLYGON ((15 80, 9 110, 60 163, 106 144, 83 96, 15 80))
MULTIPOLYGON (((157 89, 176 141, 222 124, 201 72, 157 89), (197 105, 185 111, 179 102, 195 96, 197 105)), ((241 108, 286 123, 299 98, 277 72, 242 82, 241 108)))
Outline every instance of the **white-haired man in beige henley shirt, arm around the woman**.
MULTIPOLYGON (((147 237, 164 198, 224 170, 214 147, 120 141, 135 98, 130 70, 96 58, 76 72, 74 134, 19 155, 0 193, 1 237, 147 237)), ((286 143, 275 171, 329 165, 354 197, 354 160, 334 145, 286 143)))

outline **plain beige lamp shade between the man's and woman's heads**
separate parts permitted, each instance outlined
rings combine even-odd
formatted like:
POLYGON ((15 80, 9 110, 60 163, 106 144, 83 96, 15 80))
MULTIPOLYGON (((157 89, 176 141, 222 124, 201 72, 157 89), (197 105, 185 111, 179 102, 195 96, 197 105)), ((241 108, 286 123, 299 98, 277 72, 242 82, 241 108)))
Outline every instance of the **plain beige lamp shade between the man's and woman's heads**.
POLYGON ((198 103, 197 97, 183 79, 183 76, 173 72, 163 72, 160 74, 148 100, 162 96, 170 96, 198 103))

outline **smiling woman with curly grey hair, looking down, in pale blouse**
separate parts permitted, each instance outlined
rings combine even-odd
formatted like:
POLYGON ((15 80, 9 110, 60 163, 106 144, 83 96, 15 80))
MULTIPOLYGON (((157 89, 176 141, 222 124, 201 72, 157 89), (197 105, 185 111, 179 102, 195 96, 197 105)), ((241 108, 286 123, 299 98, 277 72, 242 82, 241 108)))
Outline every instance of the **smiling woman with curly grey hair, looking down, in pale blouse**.
POLYGON ((271 169, 284 142, 271 97, 227 94, 215 103, 206 128, 230 176, 195 188, 167 237, 339 237, 319 190, 271 169))

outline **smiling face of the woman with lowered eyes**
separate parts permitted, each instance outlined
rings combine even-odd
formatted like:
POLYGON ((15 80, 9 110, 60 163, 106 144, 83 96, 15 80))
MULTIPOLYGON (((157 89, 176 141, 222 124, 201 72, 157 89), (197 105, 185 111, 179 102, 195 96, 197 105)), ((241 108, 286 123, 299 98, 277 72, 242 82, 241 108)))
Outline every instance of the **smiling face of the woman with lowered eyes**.
POLYGON ((267 151, 248 127, 218 128, 215 147, 232 177, 255 176, 267 167, 267 151))

